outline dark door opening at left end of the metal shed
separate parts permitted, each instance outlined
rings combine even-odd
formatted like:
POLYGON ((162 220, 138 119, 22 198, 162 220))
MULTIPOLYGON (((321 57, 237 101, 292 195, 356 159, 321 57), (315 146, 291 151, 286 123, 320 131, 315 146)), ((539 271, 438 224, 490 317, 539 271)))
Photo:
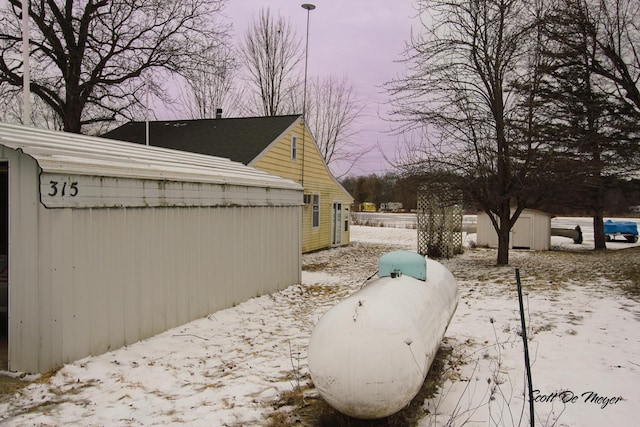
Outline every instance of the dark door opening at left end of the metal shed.
POLYGON ((9 163, 0 162, 0 370, 9 365, 9 163))

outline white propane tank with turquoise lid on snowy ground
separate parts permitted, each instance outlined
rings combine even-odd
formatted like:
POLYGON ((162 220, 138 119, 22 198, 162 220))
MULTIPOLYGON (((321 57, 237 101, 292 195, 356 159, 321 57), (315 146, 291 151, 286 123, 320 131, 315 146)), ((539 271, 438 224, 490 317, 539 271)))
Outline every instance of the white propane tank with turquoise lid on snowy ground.
POLYGON ((327 311, 309 341, 316 389, 354 418, 383 418, 411 402, 458 304, 449 270, 415 252, 384 255, 379 275, 327 311), (426 280, 412 277, 425 267, 426 280))

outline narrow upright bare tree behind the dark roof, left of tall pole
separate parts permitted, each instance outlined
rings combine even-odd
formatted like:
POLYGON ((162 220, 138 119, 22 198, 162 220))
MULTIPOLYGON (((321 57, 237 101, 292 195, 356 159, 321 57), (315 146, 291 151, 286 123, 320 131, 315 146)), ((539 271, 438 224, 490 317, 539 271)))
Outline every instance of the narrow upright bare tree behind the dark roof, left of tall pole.
POLYGON ((290 102, 300 84, 298 66, 303 52, 291 23, 261 9, 247 29, 240 47, 248 80, 257 94, 257 114, 293 113, 290 102))

